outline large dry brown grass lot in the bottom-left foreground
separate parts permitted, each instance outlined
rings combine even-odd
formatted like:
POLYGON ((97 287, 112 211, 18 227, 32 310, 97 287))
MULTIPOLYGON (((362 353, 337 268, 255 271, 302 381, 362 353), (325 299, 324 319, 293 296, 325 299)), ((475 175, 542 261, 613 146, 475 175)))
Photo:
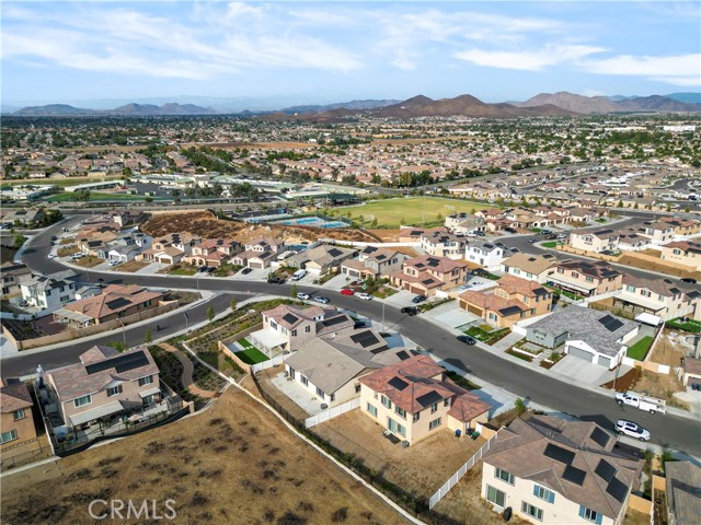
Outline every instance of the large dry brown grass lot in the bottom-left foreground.
POLYGON ((156 500, 161 516, 172 499, 172 523, 183 524, 405 523, 232 389, 203 415, 2 478, 2 518, 93 524, 87 511, 97 498, 156 500))

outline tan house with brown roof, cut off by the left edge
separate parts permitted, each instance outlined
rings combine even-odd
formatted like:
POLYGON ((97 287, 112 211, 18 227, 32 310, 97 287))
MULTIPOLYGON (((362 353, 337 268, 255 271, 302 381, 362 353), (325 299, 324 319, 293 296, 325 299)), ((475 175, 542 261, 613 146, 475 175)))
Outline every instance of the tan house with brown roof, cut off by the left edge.
POLYGON ((24 383, 0 378, 0 451, 36 438, 34 401, 24 383))

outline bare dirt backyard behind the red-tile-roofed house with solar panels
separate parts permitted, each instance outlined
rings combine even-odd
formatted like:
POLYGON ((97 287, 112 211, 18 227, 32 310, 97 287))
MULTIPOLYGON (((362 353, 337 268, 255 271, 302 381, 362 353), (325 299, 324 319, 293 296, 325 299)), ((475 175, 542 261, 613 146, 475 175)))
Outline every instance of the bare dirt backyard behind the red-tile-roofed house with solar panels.
POLYGON ((336 447, 355 454, 384 479, 418 498, 428 499, 485 442, 456 438, 448 430, 407 448, 392 444, 384 430, 360 410, 352 410, 312 429, 336 447))

